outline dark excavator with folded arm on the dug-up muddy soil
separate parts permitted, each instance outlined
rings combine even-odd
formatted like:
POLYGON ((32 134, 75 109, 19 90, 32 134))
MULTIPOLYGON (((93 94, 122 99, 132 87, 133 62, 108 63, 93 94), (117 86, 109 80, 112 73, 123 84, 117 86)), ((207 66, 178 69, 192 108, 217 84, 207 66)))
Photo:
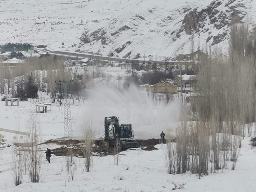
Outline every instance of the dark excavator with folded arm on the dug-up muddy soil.
POLYGON ((104 119, 104 140, 99 142, 103 152, 108 152, 109 146, 120 146, 121 149, 138 147, 138 143, 131 140, 134 138, 134 131, 131 124, 119 125, 118 117, 111 116, 104 119), (119 142, 120 145, 116 145, 119 142))

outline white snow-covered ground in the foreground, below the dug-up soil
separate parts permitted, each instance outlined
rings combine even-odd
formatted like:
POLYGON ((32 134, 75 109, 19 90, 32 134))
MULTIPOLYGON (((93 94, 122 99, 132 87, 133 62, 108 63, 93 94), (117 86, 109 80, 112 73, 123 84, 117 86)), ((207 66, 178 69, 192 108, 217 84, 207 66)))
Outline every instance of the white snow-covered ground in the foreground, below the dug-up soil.
MULTIPOLYGON (((52 144, 51 144, 52 145, 52 144)), ((55 147, 43 145, 42 148, 55 147)), ((114 157, 93 156, 91 171, 84 171, 82 158, 76 158, 77 170, 74 181, 65 168, 65 158, 52 156, 48 164, 43 157, 40 183, 30 183, 28 175, 24 182, 14 187, 10 172, 12 146, 0 148, 0 189, 5 192, 34 191, 172 191, 173 183, 184 184, 182 191, 188 192, 253 192, 256 177, 256 148, 249 145, 249 138, 242 140, 235 170, 223 169, 199 179, 194 174, 167 174, 164 162, 164 147, 159 150, 141 149, 121 152, 119 165, 114 165, 114 157), (63 169, 63 170, 62 170, 63 169), (65 186, 66 185, 66 186, 65 186)))

